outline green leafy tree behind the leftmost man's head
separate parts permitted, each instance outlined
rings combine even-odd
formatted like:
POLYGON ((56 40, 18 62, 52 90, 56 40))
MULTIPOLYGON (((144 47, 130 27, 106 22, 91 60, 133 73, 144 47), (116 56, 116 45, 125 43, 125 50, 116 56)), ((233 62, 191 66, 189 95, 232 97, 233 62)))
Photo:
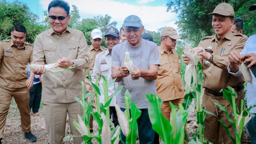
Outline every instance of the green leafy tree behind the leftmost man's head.
POLYGON ((44 30, 38 24, 38 16, 33 14, 28 6, 18 0, 10 3, 6 0, 0 1, 0 33, 1 40, 10 36, 11 28, 15 24, 26 27, 26 41, 33 43, 36 35, 44 30))

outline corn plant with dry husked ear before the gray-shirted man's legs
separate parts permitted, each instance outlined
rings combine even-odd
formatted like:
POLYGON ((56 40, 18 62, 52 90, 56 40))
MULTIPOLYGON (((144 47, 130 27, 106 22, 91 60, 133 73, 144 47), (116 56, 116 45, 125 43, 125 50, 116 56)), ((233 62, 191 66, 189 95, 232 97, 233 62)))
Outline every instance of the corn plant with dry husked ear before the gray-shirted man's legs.
POLYGON ((115 104, 118 122, 122 133, 126 136, 126 144, 136 144, 138 124, 137 119, 141 115, 141 110, 137 108, 134 102, 131 102, 131 94, 126 90, 124 94, 126 110, 122 112, 120 107, 115 104))

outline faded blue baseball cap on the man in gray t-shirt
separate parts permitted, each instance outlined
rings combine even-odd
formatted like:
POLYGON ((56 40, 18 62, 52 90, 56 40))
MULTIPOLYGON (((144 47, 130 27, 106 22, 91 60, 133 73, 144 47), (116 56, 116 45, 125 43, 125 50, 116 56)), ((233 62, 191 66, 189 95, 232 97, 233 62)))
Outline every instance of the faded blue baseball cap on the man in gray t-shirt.
POLYGON ((142 22, 141 22, 141 20, 140 20, 140 18, 138 16, 130 15, 130 16, 127 16, 124 19, 124 23, 123 23, 122 26, 141 27, 142 26, 142 22))

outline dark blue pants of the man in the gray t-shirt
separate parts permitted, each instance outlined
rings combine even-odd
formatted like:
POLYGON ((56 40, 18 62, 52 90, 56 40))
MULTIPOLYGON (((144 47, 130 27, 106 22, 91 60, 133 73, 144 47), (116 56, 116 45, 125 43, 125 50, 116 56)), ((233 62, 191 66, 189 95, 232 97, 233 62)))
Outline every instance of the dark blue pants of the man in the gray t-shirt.
MULTIPOLYGON (((124 108, 121 108, 124 112, 124 108)), ((152 128, 152 124, 150 122, 148 116, 148 109, 140 109, 141 115, 137 120, 138 123, 138 132, 139 132, 139 140, 140 144, 153 144, 154 143, 154 136, 155 131, 152 128)), ((121 144, 126 144, 126 137, 121 131, 121 144)))

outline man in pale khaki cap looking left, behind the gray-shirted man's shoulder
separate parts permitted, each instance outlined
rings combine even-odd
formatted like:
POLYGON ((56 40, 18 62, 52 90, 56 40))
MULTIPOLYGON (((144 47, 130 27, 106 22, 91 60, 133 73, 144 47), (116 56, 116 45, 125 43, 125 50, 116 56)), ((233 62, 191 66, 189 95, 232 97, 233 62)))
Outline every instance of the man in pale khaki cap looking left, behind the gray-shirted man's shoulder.
POLYGON ((161 44, 158 46, 160 66, 156 79, 157 96, 163 101, 162 113, 170 121, 171 107, 169 102, 179 106, 184 99, 184 87, 180 76, 180 59, 174 50, 176 40, 182 38, 172 27, 164 28, 161 33, 161 44))

